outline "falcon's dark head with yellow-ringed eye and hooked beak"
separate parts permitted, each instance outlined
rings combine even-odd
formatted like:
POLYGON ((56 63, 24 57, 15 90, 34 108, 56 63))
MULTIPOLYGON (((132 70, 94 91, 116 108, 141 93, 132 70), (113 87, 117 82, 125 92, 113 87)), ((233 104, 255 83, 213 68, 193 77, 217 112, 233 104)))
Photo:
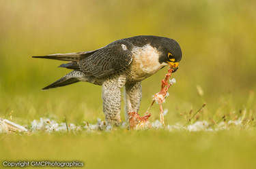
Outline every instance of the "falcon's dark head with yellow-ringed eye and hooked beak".
POLYGON ((179 62, 182 60, 182 50, 179 43, 174 39, 162 37, 154 42, 158 51, 161 52, 159 62, 165 62, 173 68, 173 72, 177 71, 179 62))

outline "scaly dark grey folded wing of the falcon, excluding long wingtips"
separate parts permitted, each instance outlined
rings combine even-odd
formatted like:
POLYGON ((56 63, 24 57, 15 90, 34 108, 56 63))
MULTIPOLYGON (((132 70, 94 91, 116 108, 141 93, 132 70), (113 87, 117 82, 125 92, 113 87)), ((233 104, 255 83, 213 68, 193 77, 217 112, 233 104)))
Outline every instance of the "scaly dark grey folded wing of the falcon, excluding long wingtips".
POLYGON ((79 62, 85 75, 107 77, 128 67, 132 62, 132 43, 121 39, 101 48, 79 62), (126 48, 123 46, 126 45, 126 48))

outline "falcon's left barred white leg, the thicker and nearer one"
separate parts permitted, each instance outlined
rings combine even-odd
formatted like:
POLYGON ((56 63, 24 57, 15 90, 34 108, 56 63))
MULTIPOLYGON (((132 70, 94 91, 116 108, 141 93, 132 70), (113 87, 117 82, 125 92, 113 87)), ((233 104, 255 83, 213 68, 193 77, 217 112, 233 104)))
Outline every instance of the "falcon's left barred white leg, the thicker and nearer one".
POLYGON ((121 88, 124 87, 126 78, 119 76, 106 79, 102 84, 103 112, 106 124, 119 126, 121 123, 121 88))

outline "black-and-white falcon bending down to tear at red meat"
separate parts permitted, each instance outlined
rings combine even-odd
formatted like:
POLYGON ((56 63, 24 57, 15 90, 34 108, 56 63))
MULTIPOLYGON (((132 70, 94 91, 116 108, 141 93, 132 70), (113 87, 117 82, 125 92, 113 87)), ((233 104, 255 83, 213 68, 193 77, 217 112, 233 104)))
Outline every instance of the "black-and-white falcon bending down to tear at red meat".
POLYGON ((89 52, 33 56, 70 61, 59 67, 70 73, 43 88, 57 88, 78 81, 102 86, 103 112, 106 124, 119 125, 121 88, 125 88, 126 120, 129 112, 138 112, 141 102, 141 81, 159 69, 171 65, 174 71, 182 59, 180 45, 174 39, 140 35, 113 41, 89 52))

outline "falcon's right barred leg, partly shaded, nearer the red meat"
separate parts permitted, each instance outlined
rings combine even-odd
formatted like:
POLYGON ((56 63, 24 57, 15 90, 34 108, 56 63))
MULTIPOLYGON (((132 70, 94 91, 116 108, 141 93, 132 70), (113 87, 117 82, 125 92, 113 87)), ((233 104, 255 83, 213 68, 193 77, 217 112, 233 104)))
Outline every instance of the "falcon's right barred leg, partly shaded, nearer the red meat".
POLYGON ((126 83, 124 90, 125 102, 126 102, 126 121, 129 119, 128 113, 138 113, 141 103, 142 90, 141 82, 126 83))

